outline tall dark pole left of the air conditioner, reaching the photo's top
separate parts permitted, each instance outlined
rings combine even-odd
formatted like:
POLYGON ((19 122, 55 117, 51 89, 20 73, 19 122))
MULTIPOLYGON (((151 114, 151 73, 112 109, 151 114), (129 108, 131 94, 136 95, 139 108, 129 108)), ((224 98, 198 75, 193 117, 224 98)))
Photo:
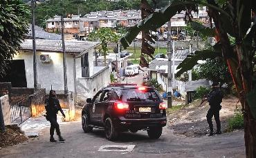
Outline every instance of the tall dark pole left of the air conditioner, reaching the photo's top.
POLYGON ((33 39, 33 76, 34 76, 34 90, 37 90, 37 58, 36 58, 36 47, 35 47, 35 1, 31 0, 32 7, 32 39, 33 39))

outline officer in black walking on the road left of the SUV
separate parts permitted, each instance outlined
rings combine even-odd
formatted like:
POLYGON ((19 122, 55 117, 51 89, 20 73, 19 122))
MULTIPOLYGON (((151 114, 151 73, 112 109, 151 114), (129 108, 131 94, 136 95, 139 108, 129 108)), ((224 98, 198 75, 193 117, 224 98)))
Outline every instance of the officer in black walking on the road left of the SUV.
POLYGON ((55 90, 50 90, 50 94, 48 99, 44 102, 45 108, 46 108, 46 119, 51 122, 51 128, 50 128, 50 141, 56 142, 54 139, 54 130, 56 130, 57 135, 59 136, 59 141, 65 141, 63 139, 61 133, 60 133, 60 126, 57 123, 57 112, 62 112, 62 116, 66 117, 62 107, 60 106, 60 101, 57 99, 55 90))

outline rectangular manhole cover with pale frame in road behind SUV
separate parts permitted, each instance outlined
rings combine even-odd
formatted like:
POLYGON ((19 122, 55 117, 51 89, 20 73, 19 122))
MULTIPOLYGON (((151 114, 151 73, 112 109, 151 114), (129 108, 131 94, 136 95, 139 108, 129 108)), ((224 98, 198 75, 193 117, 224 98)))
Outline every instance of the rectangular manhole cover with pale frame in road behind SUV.
POLYGON ((134 150, 135 145, 107 145, 100 146, 98 151, 121 151, 121 152, 131 152, 134 150))

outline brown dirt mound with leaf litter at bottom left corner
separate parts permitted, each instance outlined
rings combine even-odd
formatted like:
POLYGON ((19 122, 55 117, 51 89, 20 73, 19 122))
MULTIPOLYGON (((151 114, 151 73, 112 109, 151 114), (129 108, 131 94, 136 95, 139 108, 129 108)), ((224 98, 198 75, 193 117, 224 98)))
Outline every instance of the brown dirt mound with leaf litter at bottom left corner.
POLYGON ((0 132, 0 148, 14 146, 28 140, 17 126, 6 126, 6 132, 0 132))

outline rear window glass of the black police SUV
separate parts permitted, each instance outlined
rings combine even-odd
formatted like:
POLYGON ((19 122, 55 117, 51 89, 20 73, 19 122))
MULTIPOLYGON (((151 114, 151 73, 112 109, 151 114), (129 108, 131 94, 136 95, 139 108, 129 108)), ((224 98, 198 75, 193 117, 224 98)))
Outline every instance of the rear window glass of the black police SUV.
POLYGON ((161 101, 158 92, 152 88, 146 90, 138 90, 137 88, 129 88, 115 90, 115 99, 119 101, 161 101))

